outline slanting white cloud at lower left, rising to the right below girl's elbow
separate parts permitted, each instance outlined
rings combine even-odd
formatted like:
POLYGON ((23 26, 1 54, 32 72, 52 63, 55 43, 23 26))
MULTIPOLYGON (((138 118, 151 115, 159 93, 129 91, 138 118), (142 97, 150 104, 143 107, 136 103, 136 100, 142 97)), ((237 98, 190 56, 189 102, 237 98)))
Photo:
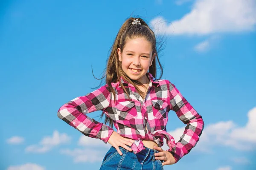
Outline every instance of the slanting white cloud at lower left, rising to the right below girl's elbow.
POLYGON ((67 144, 70 142, 70 137, 66 133, 60 134, 55 130, 52 136, 44 137, 39 144, 32 144, 25 148, 26 152, 30 153, 46 153, 54 146, 59 144, 67 144))

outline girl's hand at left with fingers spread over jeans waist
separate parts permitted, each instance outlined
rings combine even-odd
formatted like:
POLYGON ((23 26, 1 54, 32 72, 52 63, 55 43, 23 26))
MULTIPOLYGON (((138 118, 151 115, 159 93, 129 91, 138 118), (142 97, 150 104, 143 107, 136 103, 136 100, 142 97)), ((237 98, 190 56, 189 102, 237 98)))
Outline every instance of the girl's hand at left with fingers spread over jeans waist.
POLYGON ((134 143, 134 140, 126 139, 126 138, 120 136, 115 131, 113 131, 113 133, 111 134, 111 136, 108 139, 108 143, 111 144, 114 148, 116 148, 117 152, 120 155, 122 155, 122 152, 119 149, 119 146, 125 148, 126 150, 132 151, 132 149, 128 146, 131 146, 134 143))

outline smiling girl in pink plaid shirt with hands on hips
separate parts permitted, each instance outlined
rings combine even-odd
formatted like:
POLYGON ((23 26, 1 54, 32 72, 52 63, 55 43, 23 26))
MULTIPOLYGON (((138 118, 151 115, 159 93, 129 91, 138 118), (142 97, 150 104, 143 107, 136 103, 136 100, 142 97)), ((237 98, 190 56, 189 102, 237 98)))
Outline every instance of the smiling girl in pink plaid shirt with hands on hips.
POLYGON ((101 170, 163 170, 164 165, 179 161, 198 142, 204 128, 202 117, 175 85, 154 78, 156 60, 162 71, 154 32, 141 18, 129 18, 112 46, 106 85, 58 110, 60 119, 85 136, 112 145, 101 170), (99 110, 106 115, 105 124, 86 115, 99 110), (166 132, 170 110, 186 124, 176 143, 166 132), (164 138, 168 150, 161 148, 164 138))

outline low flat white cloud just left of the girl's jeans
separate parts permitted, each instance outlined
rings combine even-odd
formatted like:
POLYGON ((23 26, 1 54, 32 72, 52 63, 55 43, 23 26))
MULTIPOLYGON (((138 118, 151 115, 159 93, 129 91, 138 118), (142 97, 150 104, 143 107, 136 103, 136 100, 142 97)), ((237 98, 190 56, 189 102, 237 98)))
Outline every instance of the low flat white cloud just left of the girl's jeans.
POLYGON ((74 163, 79 162, 98 162, 102 161, 107 149, 99 150, 97 149, 87 149, 87 148, 76 148, 74 150, 65 149, 61 150, 61 154, 72 156, 74 163))

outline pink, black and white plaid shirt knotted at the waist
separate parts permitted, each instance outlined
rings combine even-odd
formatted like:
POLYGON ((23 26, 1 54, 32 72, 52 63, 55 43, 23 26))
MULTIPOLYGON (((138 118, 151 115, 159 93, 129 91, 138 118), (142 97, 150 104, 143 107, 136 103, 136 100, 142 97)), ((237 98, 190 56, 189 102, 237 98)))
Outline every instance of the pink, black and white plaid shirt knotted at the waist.
POLYGON ((144 149, 142 140, 152 140, 161 147, 165 138, 169 146, 168 151, 177 162, 198 142, 204 128, 204 121, 175 85, 168 80, 155 79, 150 73, 146 75, 150 82, 145 99, 133 85, 121 77, 121 83, 125 86, 130 98, 119 82, 111 83, 115 94, 106 84, 86 96, 77 97, 61 106, 58 117, 85 136, 98 138, 107 143, 113 129, 86 115, 86 113, 101 110, 113 120, 120 136, 135 140, 131 146, 134 153, 144 149), (166 132, 170 110, 175 111, 178 118, 186 124, 184 133, 177 143, 166 132))

